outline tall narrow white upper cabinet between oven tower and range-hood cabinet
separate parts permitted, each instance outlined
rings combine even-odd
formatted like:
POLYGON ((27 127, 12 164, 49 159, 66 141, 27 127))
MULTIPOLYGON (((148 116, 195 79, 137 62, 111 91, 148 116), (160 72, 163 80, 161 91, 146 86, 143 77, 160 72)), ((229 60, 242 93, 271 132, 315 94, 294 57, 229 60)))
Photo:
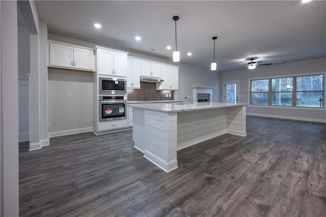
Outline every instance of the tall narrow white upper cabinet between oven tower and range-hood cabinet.
POLYGON ((140 89, 141 60, 127 59, 127 88, 140 89))

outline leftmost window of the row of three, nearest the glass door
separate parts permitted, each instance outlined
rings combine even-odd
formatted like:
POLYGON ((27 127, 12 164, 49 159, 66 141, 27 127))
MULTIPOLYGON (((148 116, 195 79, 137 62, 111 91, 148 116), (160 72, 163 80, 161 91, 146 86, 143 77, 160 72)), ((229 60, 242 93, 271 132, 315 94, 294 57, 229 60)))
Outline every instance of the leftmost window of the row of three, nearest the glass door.
POLYGON ((268 105, 268 79, 251 81, 251 104, 268 105))

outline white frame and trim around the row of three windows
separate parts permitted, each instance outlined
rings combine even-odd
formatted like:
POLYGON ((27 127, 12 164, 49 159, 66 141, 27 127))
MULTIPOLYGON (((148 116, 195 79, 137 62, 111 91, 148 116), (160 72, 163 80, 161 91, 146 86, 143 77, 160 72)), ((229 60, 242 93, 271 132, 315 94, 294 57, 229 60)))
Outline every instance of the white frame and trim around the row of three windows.
MULTIPOLYGON (((303 73, 303 74, 286 74, 286 75, 278 75, 278 76, 268 76, 268 77, 251 77, 248 79, 248 106, 250 107, 266 107, 266 108, 286 108, 286 109, 298 109, 298 110, 325 110, 325 87, 326 87, 326 72, 313 72, 313 73, 303 73), (302 76, 313 76, 313 75, 323 75, 323 90, 321 91, 312 91, 312 92, 322 92, 322 107, 310 107, 310 106, 296 106, 296 93, 297 92, 303 92, 303 91, 296 91, 296 77, 302 77, 302 76), (286 78, 286 77, 292 77, 292 83, 293 83, 293 89, 292 89, 292 105, 271 105, 272 99, 271 94, 275 91, 271 91, 271 79, 275 78, 286 78), (268 105, 257 105, 257 104, 251 104, 251 94, 252 93, 263 93, 263 92, 251 92, 251 82, 252 80, 263 80, 268 79, 268 105)), ((305 91, 306 92, 306 91, 305 91)))

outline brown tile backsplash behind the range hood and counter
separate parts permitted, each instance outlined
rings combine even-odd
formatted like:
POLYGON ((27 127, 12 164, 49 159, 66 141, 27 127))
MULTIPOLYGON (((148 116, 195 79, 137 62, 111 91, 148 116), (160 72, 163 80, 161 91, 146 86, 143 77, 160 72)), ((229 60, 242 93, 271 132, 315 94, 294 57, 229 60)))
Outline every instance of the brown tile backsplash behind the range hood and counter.
POLYGON ((156 83, 141 82, 141 89, 127 90, 128 101, 174 100, 173 91, 157 91, 156 83), (166 97, 171 94, 171 97, 166 97))

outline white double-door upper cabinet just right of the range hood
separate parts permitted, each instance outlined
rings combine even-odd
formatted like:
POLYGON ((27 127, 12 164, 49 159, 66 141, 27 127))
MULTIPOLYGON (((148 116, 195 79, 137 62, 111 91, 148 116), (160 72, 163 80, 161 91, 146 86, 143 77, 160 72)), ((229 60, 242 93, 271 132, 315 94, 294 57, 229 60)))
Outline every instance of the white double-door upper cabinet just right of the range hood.
POLYGON ((179 68, 162 64, 162 79, 164 82, 157 83, 157 90, 178 90, 179 68))

